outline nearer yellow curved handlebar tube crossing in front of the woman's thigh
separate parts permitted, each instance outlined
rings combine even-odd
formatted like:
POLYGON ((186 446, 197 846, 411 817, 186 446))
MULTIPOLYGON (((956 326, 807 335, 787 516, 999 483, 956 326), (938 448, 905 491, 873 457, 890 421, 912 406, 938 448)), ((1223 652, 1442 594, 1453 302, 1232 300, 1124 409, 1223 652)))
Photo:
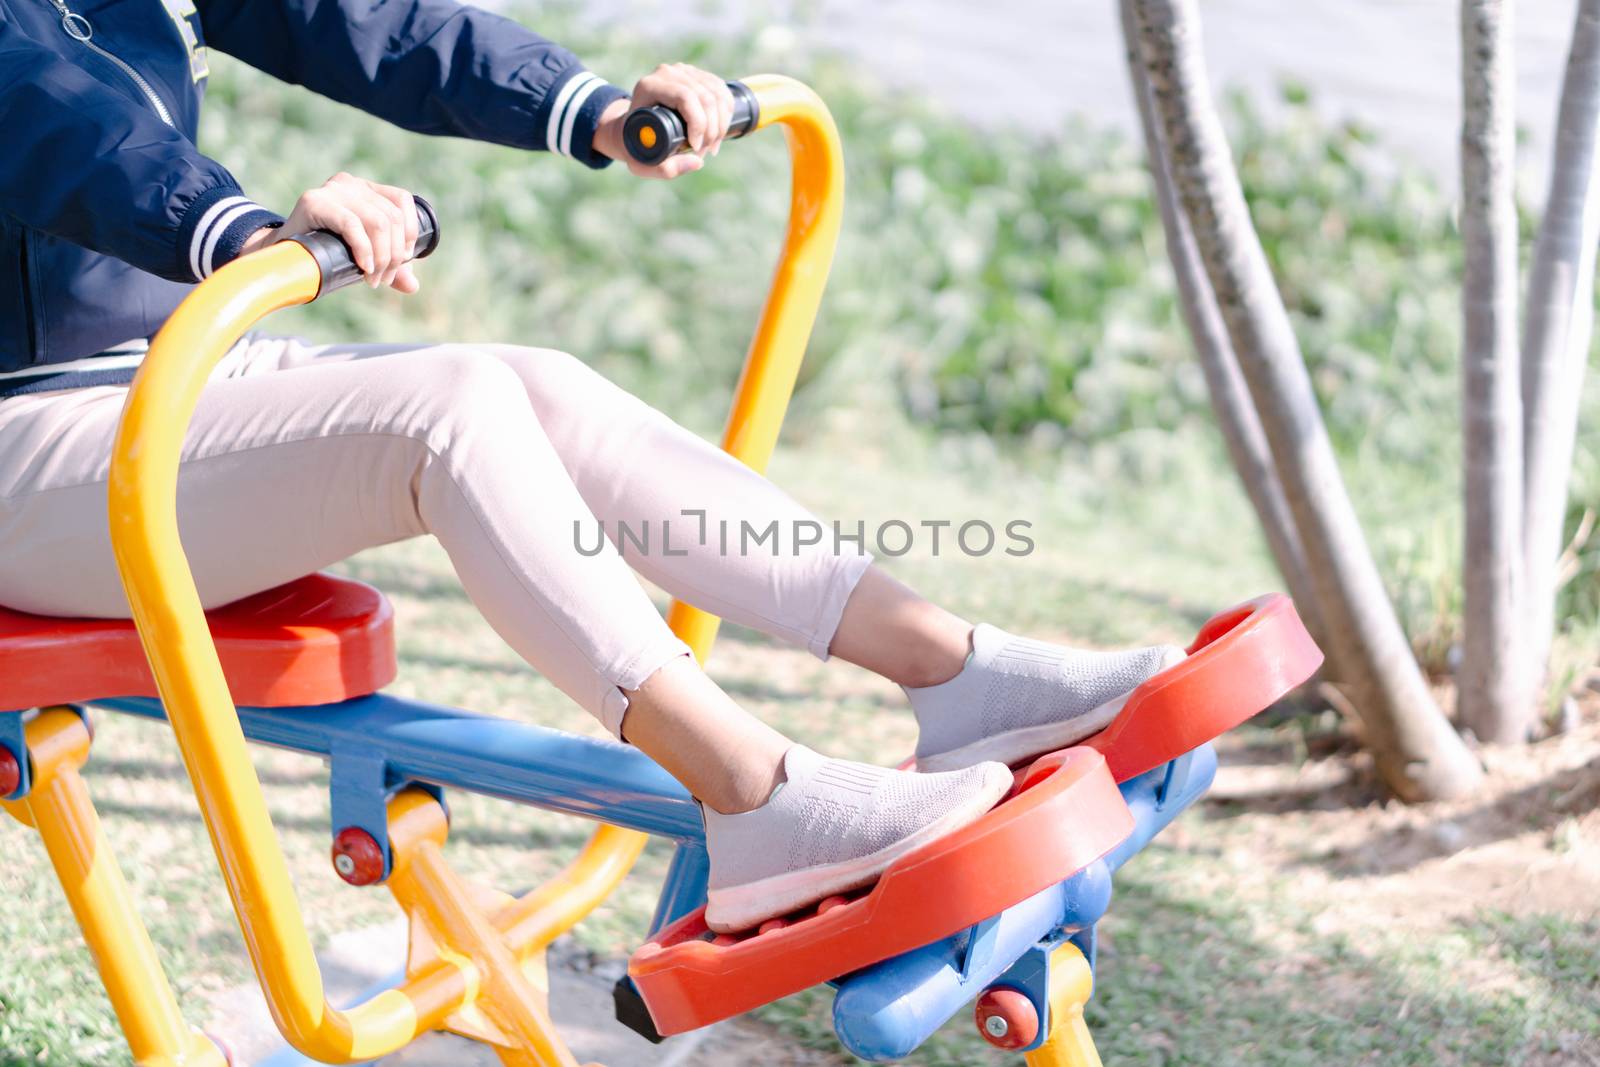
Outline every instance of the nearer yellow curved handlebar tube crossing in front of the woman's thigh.
POLYGON ((128 390, 117 430, 110 536, 272 1017, 307 1056, 349 1062, 411 1041, 426 1030, 422 1013, 397 990, 347 1014, 326 1003, 288 864, 178 537, 178 464, 206 378, 256 320, 312 301, 320 286, 317 261, 285 242, 222 267, 173 312, 128 390))

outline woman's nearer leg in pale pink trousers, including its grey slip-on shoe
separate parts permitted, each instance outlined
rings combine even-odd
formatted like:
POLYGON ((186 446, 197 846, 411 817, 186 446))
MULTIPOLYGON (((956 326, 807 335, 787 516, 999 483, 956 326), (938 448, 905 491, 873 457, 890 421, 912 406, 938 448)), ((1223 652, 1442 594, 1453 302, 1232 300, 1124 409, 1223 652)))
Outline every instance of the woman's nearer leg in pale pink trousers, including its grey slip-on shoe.
MULTIPOLYGON (((237 378, 206 389, 184 446, 179 530, 202 601, 435 534, 512 648, 613 731, 627 712, 629 737, 709 803, 710 921, 736 928, 870 881, 1010 784, 998 765, 915 776, 824 760, 749 718, 614 550, 574 549, 573 523, 592 515, 504 363, 424 352, 251 366, 232 360, 237 378)), ((122 398, 0 403, 0 603, 126 614, 106 515, 122 398)))

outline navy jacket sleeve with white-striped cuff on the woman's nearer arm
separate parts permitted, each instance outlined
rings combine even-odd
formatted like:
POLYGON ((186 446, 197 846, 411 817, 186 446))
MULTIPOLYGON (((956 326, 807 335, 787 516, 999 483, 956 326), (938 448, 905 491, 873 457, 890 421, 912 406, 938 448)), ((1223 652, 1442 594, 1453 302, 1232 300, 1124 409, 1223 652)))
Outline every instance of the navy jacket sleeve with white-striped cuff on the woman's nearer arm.
POLYGON ((0 14, 0 211, 173 282, 197 282, 282 218, 154 110, 0 14))

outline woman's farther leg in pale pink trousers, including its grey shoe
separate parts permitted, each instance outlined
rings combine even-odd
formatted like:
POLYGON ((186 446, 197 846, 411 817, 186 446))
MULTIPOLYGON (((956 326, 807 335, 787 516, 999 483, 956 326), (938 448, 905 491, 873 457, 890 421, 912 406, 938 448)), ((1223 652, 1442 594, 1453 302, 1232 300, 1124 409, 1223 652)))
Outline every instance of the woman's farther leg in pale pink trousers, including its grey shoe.
MULTIPOLYGON (((474 350, 517 374, 584 502, 635 569, 714 614, 904 686, 920 725, 918 766, 1018 761, 1072 744, 1182 656, 1170 646, 1080 651, 973 627, 872 568, 859 545, 842 550, 832 525, 581 362, 515 346, 474 350), (757 542, 746 530, 771 533, 757 542)), ((598 541, 598 531, 587 536, 598 541)))

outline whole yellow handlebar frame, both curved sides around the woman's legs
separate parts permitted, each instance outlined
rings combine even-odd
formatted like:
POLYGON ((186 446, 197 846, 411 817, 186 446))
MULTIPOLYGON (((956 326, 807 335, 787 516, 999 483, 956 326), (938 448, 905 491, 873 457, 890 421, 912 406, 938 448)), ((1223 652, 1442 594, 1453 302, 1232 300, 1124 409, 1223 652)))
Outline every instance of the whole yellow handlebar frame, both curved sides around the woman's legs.
MULTIPOLYGON (((784 128, 792 163, 782 256, 723 435, 728 453, 762 470, 778 440, 827 282, 845 178, 838 131, 811 90, 776 75, 749 78, 746 85, 760 99, 760 126, 784 128)), ((222 267, 173 312, 128 390, 117 430, 110 537, 139 640, 272 1017, 301 1053, 350 1062, 387 1056, 470 1003, 478 985, 474 965, 440 960, 357 1008, 338 1011, 328 1005, 178 536, 179 459, 206 379, 259 318, 310 302, 320 285, 315 258, 285 242, 222 267)), ((670 622, 704 661, 717 619, 675 603, 670 622)), ((520 921, 547 944, 610 894, 643 843, 642 833, 602 827, 558 880, 558 891, 528 897, 520 921)))

